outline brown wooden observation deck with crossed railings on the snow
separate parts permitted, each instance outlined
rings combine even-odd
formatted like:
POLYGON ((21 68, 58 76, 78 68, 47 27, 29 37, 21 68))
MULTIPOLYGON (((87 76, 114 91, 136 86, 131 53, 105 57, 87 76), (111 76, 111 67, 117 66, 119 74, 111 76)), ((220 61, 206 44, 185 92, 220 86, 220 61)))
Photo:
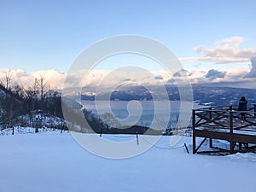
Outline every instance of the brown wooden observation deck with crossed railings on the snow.
POLYGON ((247 111, 237 111, 235 107, 209 107, 193 109, 193 154, 209 152, 236 153, 256 148, 256 104, 247 111), (246 118, 241 117, 246 113, 246 118), (204 138, 196 146, 196 138, 204 138), (212 140, 223 140, 229 148, 218 148, 212 140), (209 150, 200 150, 209 141, 209 150))

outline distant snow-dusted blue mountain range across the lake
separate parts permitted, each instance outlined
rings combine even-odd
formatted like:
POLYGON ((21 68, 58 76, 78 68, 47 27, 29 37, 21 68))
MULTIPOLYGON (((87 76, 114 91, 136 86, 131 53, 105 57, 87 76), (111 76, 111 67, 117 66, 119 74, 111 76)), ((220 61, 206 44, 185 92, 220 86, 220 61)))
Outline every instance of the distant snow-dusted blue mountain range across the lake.
MULTIPOLYGON (((165 88, 169 100, 180 100, 177 86, 166 85, 165 88)), ((151 85, 149 89, 150 91, 140 85, 125 85, 113 91, 100 93, 97 96, 83 94, 81 98, 82 100, 94 100, 95 98, 97 100, 108 100, 110 98, 112 101, 166 99, 160 86, 151 85)), ((245 96, 249 103, 256 103, 256 90, 253 89, 193 85, 192 90, 193 100, 201 105, 234 105, 240 100, 241 96, 245 96)))

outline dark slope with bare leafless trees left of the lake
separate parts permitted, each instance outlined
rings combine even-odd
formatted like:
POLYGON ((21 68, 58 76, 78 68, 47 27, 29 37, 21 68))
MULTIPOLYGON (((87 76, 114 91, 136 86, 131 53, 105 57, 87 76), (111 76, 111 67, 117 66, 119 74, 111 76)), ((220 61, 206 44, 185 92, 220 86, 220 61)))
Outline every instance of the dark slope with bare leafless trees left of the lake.
POLYGON ((50 90, 49 87, 44 76, 34 79, 31 85, 25 87, 13 82, 10 71, 7 71, 4 78, 0 80, 0 128, 17 125, 44 127, 45 122, 41 117, 47 116, 53 122, 50 125, 52 128, 67 129, 68 121, 75 131, 91 131, 90 127, 96 130, 109 129, 109 125, 89 110, 83 109, 81 113, 65 106, 65 102, 62 106, 61 93, 50 90), (62 108, 68 113, 66 120, 64 120, 62 108), (84 118, 88 126, 84 126, 84 118))

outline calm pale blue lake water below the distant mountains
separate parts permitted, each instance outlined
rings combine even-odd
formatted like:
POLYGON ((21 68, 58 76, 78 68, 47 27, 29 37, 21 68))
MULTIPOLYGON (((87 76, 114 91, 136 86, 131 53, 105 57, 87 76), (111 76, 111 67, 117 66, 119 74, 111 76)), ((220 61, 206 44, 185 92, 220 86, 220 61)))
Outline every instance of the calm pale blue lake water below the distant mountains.
POLYGON ((192 102, 170 101, 83 101, 84 108, 96 114, 112 113, 121 125, 175 126, 177 117, 190 120, 192 108, 200 108, 192 102), (161 125, 163 124, 163 125, 161 125))

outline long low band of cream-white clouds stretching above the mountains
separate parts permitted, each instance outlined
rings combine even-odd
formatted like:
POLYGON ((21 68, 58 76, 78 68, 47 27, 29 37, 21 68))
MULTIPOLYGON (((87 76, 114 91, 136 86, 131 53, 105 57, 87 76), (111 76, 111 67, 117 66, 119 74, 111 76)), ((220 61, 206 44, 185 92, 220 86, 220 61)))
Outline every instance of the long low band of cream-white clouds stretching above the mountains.
MULTIPOLYGON (((4 77, 4 70, 0 69, 0 79, 4 77), (1 73, 2 72, 2 73, 1 73)), ((185 84, 211 84, 211 83, 241 83, 254 84, 255 79, 244 79, 247 74, 254 74, 254 64, 251 73, 244 68, 232 68, 226 70, 216 70, 209 73, 207 70, 186 69, 177 73, 170 74, 166 71, 109 71, 109 70, 93 70, 79 71, 79 73, 67 74, 59 73, 55 70, 41 70, 32 73, 26 73, 24 70, 12 70, 12 83, 23 84, 25 87, 32 85, 35 78, 44 76, 50 85, 50 89, 63 88, 66 81, 67 87, 100 87, 101 89, 114 88, 121 84, 166 84, 170 83, 170 79, 176 79, 179 83, 185 84), (67 79, 66 79, 67 77, 67 79), (157 77, 157 78, 156 78, 157 77)), ((175 82, 172 82, 175 83, 175 82)))

